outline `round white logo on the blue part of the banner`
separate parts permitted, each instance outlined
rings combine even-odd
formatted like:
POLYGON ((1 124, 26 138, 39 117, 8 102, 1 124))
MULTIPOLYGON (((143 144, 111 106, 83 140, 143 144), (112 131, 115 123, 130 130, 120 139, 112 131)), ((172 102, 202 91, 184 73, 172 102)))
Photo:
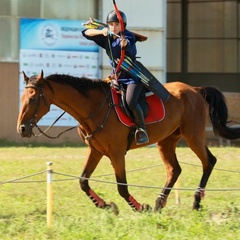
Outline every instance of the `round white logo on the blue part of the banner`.
POLYGON ((46 45, 54 45, 58 40, 57 28, 52 24, 45 25, 41 31, 41 38, 46 45))

